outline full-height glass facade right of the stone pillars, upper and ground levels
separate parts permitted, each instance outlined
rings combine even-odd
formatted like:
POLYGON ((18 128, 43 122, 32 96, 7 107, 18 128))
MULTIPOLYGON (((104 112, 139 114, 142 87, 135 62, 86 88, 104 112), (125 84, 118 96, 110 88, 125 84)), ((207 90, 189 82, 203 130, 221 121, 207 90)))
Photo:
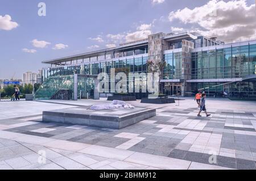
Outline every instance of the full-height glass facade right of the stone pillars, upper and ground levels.
MULTIPOLYGON (((253 74, 256 74, 256 44, 192 53, 192 79, 246 78, 253 74)), ((205 90, 209 96, 226 91, 230 97, 256 98, 256 82, 222 83, 226 82, 191 83, 191 90, 210 87, 205 90)))

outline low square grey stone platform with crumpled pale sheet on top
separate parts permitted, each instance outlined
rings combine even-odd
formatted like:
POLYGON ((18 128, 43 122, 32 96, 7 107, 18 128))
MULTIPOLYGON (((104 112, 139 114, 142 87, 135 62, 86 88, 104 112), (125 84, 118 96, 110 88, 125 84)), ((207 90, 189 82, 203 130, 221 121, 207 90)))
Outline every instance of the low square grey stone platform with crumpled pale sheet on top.
POLYGON ((92 127, 121 129, 156 115, 156 108, 137 106, 134 109, 88 110, 75 107, 43 111, 43 122, 88 125, 92 127))

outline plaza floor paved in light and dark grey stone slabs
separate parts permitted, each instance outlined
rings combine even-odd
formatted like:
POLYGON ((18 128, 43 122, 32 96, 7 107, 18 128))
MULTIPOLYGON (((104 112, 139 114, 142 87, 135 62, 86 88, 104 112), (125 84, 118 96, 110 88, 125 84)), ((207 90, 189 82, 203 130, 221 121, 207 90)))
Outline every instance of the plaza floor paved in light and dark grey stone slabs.
POLYGON ((106 102, 0 102, 0 169, 256 169, 256 102, 209 98, 210 117, 192 98, 129 102, 156 116, 119 130, 42 122, 42 111, 106 102))

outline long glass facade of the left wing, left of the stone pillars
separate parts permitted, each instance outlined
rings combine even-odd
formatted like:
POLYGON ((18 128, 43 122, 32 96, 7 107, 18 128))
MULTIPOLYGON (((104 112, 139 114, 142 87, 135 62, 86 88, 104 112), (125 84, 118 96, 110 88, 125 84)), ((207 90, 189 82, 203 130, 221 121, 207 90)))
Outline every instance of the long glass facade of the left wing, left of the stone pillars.
MULTIPOLYGON (((125 72, 129 73, 146 73, 147 72, 147 56, 136 56, 133 58, 119 58, 119 60, 112 61, 102 61, 102 62, 92 62, 90 64, 81 65, 70 65, 70 66, 58 66, 55 68, 43 69, 42 77, 43 82, 47 81, 51 77, 61 77, 63 75, 73 75, 73 74, 89 74, 98 75, 100 73, 107 73, 110 75, 110 69, 115 68, 115 73, 125 72)), ((135 77, 136 78, 136 77, 135 77)), ((135 80, 135 79, 134 79, 135 80)), ((79 79, 78 92, 89 92, 92 95, 92 79, 79 79), (90 93, 91 92, 91 93, 90 93)), ((115 83, 119 80, 115 80, 115 83)), ((134 81, 134 84, 136 86, 134 81)), ((109 83, 110 86, 110 83, 109 83)), ((110 89, 110 87, 109 87, 110 89)), ((128 87, 127 87, 128 90, 128 87)))

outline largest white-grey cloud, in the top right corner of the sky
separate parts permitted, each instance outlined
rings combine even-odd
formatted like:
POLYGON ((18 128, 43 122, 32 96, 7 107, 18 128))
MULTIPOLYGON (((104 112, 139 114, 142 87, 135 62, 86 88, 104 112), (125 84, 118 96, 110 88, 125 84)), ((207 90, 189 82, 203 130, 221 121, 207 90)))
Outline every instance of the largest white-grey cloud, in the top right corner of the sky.
POLYGON ((254 36, 256 33, 255 4, 247 5, 246 0, 217 1, 188 9, 172 11, 169 20, 178 19, 184 24, 199 27, 197 32, 222 40, 241 36, 254 36))

